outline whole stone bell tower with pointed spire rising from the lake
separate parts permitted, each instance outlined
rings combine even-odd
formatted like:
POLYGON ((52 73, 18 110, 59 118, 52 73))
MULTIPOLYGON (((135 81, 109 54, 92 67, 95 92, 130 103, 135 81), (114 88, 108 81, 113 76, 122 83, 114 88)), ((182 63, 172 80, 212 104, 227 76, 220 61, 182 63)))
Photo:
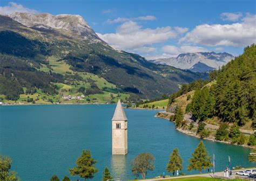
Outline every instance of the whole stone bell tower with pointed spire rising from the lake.
POLYGON ((112 118, 112 155, 126 155, 127 149, 127 117, 120 100, 112 118))

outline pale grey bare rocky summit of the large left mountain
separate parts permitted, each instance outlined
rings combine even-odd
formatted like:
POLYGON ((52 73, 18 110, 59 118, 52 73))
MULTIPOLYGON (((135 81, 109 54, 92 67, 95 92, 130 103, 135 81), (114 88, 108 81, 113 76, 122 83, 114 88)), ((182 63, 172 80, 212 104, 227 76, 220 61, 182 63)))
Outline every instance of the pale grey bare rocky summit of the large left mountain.
POLYGON ((37 29, 65 30, 70 33, 75 33, 83 38, 100 40, 97 34, 80 15, 54 16, 49 13, 32 14, 15 12, 11 13, 9 17, 27 27, 37 29))

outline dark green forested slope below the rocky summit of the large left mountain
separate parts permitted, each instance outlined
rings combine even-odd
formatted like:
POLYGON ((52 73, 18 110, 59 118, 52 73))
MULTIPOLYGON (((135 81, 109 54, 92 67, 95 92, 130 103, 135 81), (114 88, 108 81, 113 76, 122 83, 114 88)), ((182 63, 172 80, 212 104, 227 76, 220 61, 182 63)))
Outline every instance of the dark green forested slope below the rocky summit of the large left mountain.
MULTIPOLYGON (((73 37, 52 30, 30 29, 11 18, 0 16, 0 94, 17 100, 26 89, 40 88, 50 95, 57 94, 55 82, 70 82, 70 73, 42 72, 53 56, 70 65, 71 71, 89 72, 106 79, 118 90, 134 99, 156 99, 178 91, 179 84, 206 79, 207 73, 193 73, 178 68, 156 65, 138 54, 116 51, 109 45, 73 37), (14 89, 14 87, 17 87, 14 89)), ((78 77, 73 80, 79 80, 78 77), (77 78, 77 79, 76 79, 77 78)), ((87 87, 86 94, 104 90, 87 87)))

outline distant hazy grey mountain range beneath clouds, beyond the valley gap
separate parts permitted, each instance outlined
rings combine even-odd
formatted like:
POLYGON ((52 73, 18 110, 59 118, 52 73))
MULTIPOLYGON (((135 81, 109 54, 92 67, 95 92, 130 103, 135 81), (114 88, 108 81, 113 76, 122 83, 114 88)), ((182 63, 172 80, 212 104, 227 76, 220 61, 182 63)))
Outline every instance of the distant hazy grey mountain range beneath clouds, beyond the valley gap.
POLYGON ((154 64, 170 65, 193 72, 207 72, 227 64, 234 56, 230 53, 198 52, 182 53, 178 57, 149 60, 154 64))

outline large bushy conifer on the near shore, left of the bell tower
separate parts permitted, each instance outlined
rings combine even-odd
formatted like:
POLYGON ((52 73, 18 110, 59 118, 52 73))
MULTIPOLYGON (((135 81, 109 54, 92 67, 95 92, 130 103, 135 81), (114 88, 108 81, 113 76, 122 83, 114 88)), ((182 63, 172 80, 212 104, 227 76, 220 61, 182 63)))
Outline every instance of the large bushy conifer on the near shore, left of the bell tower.
POLYGON ((96 161, 91 157, 89 150, 83 150, 82 155, 76 161, 77 166, 69 169, 70 175, 79 175, 86 181, 87 178, 93 178, 94 174, 98 172, 95 168, 96 161))

